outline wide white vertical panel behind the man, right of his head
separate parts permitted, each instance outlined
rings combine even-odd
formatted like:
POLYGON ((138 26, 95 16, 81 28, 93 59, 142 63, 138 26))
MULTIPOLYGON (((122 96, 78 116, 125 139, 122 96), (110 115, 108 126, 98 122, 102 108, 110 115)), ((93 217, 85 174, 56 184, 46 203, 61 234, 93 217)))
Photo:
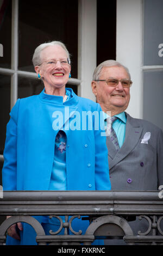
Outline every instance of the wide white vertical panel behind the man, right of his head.
POLYGON ((142 1, 117 0, 116 59, 130 71, 133 85, 127 112, 142 118, 142 1))

